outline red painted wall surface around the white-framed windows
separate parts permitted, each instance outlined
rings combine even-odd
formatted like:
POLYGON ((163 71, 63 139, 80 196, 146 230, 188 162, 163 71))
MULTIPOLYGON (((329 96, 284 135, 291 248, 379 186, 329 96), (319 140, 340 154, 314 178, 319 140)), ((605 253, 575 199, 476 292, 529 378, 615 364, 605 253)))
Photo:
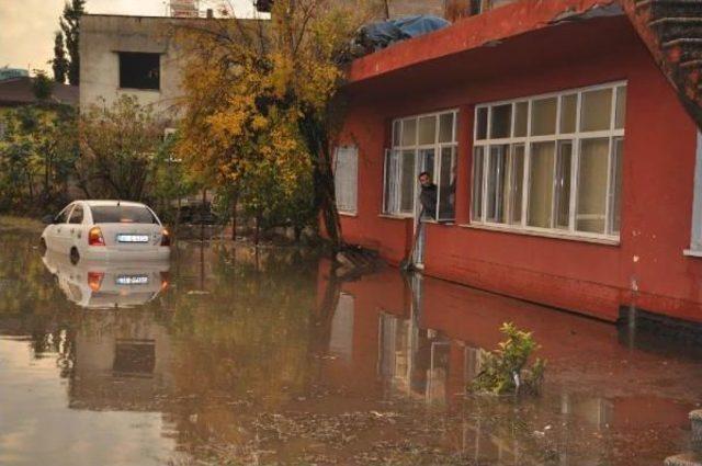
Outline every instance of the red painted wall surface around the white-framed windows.
POLYGON ((346 239, 395 263, 411 242, 409 220, 380 216, 392 118, 460 109, 456 223, 467 224, 473 105, 619 80, 629 82, 621 243, 429 225, 426 273, 608 320, 635 304, 702 321, 702 259, 683 257, 697 128, 625 16, 546 27, 350 84, 341 143, 359 147, 360 186, 358 216, 342 218, 346 239))

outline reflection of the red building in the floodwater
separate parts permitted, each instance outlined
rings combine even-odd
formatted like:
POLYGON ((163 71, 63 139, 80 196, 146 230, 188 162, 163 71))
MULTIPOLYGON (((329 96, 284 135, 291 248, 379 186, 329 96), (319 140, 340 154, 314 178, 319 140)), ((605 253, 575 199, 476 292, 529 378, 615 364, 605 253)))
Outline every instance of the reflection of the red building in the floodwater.
MULTIPOLYGON (((558 452, 562 464, 586 459, 582 451, 567 457, 570 447, 575 455, 580 435, 645 439, 646 430, 675 432, 688 424, 695 395, 684 390, 663 395, 660 378, 667 377, 670 367, 661 365, 656 354, 633 353, 609 323, 434 279, 406 281, 395 270, 344 283, 341 296, 331 323, 330 351, 343 357, 330 361, 324 372, 332 385, 366 391, 369 382, 375 379, 387 399, 399 397, 453 410, 466 402, 463 395, 479 371, 479 353, 496 348, 501 340, 497 329, 513 321, 534 331, 543 345, 539 355, 548 361, 543 404, 551 407, 542 406, 529 422, 537 427, 543 422, 540 428, 554 419, 563 422, 558 434, 568 439, 559 440, 565 442, 558 452), (351 329, 344 327, 342 338, 333 330, 337 319, 351 325, 351 329), (340 349, 339 341, 346 346, 340 349), (660 371, 652 370, 656 366, 660 371)), ((691 367, 686 373, 702 377, 691 367)), ((442 441, 476 459, 526 462, 530 448, 523 439, 490 425, 495 411, 487 410, 486 422, 475 408, 465 412, 463 431, 442 441)), ((608 464, 631 464, 641 453, 627 445, 623 451, 633 448, 632 456, 618 458, 611 445, 590 446, 590 459, 605 457, 608 464)), ((648 452, 659 445, 638 447, 648 452)), ((663 458, 670 453, 675 450, 658 454, 663 458)))

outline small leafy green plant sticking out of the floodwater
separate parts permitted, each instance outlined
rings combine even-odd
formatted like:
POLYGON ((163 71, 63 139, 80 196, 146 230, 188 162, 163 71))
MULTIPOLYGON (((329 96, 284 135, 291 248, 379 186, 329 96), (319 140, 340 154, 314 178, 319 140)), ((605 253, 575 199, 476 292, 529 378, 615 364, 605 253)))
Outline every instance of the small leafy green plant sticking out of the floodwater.
POLYGON ((531 332, 522 331, 511 322, 502 323, 500 331, 507 340, 500 342, 497 350, 482 352, 480 371, 471 383, 471 390, 495 395, 537 394, 546 362, 536 359, 531 367, 528 363, 531 354, 541 346, 531 332))

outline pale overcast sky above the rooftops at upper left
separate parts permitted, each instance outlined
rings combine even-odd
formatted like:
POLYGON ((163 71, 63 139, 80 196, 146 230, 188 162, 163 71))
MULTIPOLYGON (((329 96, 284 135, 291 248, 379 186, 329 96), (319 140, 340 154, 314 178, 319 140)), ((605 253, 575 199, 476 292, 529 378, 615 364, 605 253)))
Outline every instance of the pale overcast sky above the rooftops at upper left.
MULTIPOLYGON (((54 32, 65 0, 0 0, 0 67, 50 70, 54 32)), ((251 0, 227 0, 238 16, 251 15, 251 0)), ((211 7, 220 0, 201 0, 211 7)), ((158 15, 166 14, 165 0, 88 0, 88 13, 158 15)))

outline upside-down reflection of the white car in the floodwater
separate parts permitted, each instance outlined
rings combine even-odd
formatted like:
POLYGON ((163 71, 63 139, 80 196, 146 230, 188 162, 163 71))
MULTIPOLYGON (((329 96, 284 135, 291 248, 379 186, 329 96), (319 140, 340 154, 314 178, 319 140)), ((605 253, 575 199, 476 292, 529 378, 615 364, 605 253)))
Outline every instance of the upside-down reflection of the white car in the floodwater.
POLYGON ((105 262, 81 260, 73 264, 65 253, 48 250, 44 265, 69 300, 86 308, 114 309, 140 306, 168 287, 168 260, 105 262))

